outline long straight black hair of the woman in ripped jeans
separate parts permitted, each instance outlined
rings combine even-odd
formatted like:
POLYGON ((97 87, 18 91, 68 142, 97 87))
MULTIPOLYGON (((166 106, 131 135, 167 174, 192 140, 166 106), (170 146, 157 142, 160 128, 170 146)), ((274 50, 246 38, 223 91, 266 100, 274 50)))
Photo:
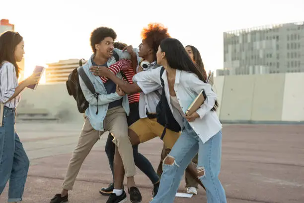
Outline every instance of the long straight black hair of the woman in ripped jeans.
MULTIPOLYGON (((201 81, 206 83, 203 70, 193 63, 180 41, 174 38, 163 39, 160 42, 160 48, 162 52, 165 52, 168 65, 171 68, 194 73, 201 81)), ((218 106, 219 103, 216 101, 212 110, 216 111, 218 106)))

